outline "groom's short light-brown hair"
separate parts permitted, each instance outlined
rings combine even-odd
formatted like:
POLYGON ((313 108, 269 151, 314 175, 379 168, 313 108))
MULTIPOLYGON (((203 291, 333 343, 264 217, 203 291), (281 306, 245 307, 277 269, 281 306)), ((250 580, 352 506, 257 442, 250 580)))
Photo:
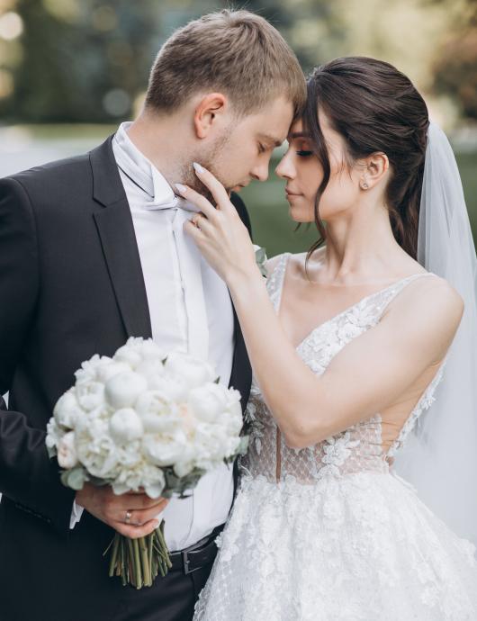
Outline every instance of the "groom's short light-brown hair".
POLYGON ((151 69, 146 108, 172 112, 201 91, 227 94, 238 115, 284 95, 296 117, 306 100, 293 50, 271 23, 244 10, 203 15, 167 39, 151 69))

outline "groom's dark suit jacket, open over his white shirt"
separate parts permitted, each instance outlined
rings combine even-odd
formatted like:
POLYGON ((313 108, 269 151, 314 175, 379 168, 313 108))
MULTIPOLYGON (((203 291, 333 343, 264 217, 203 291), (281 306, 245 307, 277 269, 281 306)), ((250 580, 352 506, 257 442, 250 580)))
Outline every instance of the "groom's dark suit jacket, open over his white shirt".
MULTIPOLYGON (((130 590, 107 577, 111 528, 85 512, 69 530, 74 492, 45 448, 54 404, 81 362, 151 336, 111 141, 0 180, 0 395, 9 392, 8 410, 0 397, 2 621, 106 621, 130 590)), ((250 229, 243 202, 233 202, 250 229)), ((245 407, 251 369, 234 318, 230 384, 245 407)))

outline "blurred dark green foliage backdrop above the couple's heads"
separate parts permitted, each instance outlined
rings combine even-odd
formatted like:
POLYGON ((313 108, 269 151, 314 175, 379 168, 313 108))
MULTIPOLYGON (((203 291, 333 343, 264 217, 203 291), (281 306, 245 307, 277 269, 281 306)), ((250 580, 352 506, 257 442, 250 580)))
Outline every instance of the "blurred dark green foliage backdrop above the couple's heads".
MULTIPOLYGON (((4 122, 107 122, 137 109, 157 50, 220 0, 0 0, 4 122), (136 105, 135 105, 136 103, 136 105)), ((242 4, 238 4, 239 6, 242 4)), ((345 55, 392 62, 447 126, 477 119, 475 0, 247 0, 305 71, 345 55)))

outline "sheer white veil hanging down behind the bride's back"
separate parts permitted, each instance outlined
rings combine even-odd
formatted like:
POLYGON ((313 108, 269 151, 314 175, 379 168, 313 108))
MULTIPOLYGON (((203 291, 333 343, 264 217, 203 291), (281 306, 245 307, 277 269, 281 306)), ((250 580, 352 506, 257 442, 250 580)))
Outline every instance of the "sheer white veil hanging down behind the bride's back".
POLYGON ((446 134, 430 123, 418 260, 464 298, 436 401, 396 455, 395 471, 429 509, 477 545, 477 259, 462 182, 446 134))

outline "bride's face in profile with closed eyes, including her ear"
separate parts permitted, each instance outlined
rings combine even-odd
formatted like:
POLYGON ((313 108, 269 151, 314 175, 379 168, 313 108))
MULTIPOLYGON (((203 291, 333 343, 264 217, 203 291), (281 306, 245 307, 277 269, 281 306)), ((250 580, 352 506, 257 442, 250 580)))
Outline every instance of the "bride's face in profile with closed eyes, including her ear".
MULTIPOLYGON (((347 163, 346 142, 338 131, 330 127, 325 114, 319 114, 320 128, 329 154, 329 183, 320 199, 320 218, 330 221, 352 209, 359 195, 359 177, 362 175, 347 163)), ((323 167, 313 153, 311 138, 303 133, 302 121, 293 123, 288 134, 289 148, 276 166, 275 172, 286 180, 285 193, 290 204, 290 215, 297 222, 315 220, 315 200, 323 167)))

